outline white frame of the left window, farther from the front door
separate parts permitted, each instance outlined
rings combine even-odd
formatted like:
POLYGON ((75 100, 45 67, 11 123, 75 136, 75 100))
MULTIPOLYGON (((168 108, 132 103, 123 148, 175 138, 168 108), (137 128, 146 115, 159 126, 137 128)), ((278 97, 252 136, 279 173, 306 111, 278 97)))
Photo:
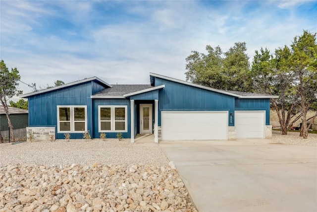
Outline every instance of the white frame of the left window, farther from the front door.
MULTIPOLYGON (((63 122, 63 121, 61 121, 63 122)), ((68 121, 67 121, 68 122, 68 121)), ((57 105, 57 133, 83 133, 87 132, 87 105, 57 105), (59 126, 59 108, 68 107, 70 111, 70 131, 60 131, 59 126), (84 121, 75 121, 74 108, 85 108, 85 129, 84 131, 75 131, 75 122, 84 122, 84 121)))

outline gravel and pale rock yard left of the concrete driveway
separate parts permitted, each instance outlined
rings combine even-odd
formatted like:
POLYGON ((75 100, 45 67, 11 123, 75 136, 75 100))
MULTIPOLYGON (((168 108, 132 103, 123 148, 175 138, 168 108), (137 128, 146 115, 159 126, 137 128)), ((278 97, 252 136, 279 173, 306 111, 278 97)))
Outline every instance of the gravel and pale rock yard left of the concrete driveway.
POLYGON ((157 144, 0 144, 0 212, 197 212, 157 144))

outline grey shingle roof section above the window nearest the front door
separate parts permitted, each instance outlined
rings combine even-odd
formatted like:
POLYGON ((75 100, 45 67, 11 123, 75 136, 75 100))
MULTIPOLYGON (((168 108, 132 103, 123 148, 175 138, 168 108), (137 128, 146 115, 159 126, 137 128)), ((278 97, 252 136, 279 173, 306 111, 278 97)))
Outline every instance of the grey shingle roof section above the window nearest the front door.
POLYGON ((150 84, 130 84, 130 85, 112 85, 112 87, 106 88, 94 96, 123 96, 124 94, 133 93, 136 91, 148 89, 154 86, 150 84))

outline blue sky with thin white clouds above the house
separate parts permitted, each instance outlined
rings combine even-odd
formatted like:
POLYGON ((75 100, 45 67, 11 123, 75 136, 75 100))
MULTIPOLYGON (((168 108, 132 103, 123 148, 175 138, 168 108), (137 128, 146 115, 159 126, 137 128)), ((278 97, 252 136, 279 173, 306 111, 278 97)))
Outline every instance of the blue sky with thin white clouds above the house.
POLYGON ((0 0, 0 59, 37 87, 149 84, 150 72, 185 80, 191 51, 246 42, 251 63, 303 30, 317 32, 316 0, 0 0))

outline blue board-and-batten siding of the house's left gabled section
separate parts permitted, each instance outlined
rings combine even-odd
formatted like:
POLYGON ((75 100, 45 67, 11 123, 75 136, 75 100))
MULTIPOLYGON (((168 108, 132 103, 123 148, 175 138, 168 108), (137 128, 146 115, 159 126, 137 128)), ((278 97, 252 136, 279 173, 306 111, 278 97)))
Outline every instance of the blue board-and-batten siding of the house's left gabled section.
MULTIPOLYGON (((74 86, 49 91, 30 96, 29 98, 29 126, 55 127, 56 139, 63 139, 63 133, 57 133, 57 105, 87 106, 87 130, 93 132, 92 99, 90 96, 105 89, 101 84, 89 81, 74 86)), ((82 139, 82 133, 70 133, 72 139, 82 139)))

